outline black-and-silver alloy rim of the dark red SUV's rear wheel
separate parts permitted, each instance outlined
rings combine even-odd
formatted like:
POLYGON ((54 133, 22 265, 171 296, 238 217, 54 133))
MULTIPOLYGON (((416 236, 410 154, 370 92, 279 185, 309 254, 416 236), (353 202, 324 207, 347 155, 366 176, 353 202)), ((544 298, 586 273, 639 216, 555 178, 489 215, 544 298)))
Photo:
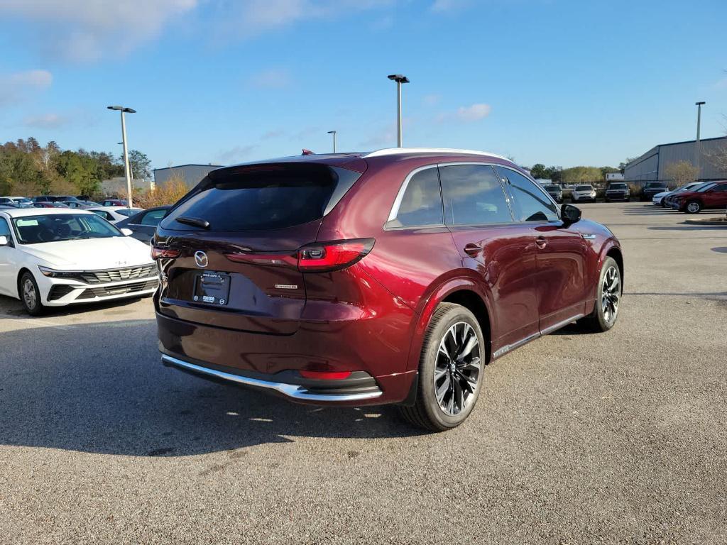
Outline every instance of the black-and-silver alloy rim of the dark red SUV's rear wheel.
POLYGON ((480 372, 480 339, 470 324, 457 322, 439 343, 434 369, 434 393, 444 413, 457 415, 473 402, 480 372))

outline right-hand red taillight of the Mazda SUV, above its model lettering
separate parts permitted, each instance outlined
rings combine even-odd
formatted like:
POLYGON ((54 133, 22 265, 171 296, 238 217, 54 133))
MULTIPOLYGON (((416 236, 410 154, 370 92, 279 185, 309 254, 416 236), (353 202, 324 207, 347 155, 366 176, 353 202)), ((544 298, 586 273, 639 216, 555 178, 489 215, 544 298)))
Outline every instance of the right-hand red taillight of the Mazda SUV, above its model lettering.
POLYGON ((300 270, 301 273, 327 273, 345 269, 363 259, 374 247, 373 238, 308 244, 286 253, 240 252, 225 254, 230 261, 300 270))

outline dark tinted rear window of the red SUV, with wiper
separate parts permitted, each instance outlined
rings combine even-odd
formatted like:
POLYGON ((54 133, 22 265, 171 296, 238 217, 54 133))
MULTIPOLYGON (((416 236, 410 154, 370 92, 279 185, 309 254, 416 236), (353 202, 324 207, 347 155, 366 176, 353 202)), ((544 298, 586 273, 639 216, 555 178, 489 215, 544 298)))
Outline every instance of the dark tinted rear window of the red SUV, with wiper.
POLYGON ((293 227, 321 219, 361 174, 321 164, 252 165, 213 171, 169 213, 161 226, 210 231, 293 227), (177 219, 182 219, 178 222, 177 219))

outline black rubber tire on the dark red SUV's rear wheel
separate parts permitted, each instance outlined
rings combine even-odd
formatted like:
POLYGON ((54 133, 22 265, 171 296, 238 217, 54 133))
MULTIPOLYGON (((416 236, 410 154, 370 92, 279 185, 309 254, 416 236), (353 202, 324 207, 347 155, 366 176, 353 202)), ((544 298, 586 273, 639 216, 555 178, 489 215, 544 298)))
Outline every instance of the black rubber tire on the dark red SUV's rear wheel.
POLYGON ((485 338, 475 315, 459 304, 439 304, 424 337, 419 359, 417 399, 413 406, 400 408, 402 416, 414 426, 432 432, 443 432, 462 424, 470 416, 480 395, 486 355, 485 338), (451 334, 453 328, 454 334, 451 334), (457 344, 460 334, 462 348, 457 344), (441 344, 457 350, 457 354, 464 352, 463 349, 472 342, 472 335, 476 336, 477 345, 462 358, 455 357, 453 360, 450 355, 440 352, 441 344), (454 345, 447 339, 454 341, 454 345), (441 376, 436 378, 435 372, 441 376), (469 375, 465 377, 465 373, 469 375), (437 384, 444 391, 439 399, 437 384), (463 385, 466 387, 463 388, 463 385), (450 400, 449 410, 454 413, 448 413, 448 409, 441 406, 441 403, 449 406, 450 400))

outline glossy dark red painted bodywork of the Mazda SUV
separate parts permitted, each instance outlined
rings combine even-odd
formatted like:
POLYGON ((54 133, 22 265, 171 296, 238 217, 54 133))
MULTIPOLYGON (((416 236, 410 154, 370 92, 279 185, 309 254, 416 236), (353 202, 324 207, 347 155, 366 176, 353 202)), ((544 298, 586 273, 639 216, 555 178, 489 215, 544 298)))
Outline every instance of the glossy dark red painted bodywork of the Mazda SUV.
POLYGON ((362 174, 329 214, 310 224, 259 233, 180 233, 160 226, 156 242, 182 249, 179 258, 161 260, 166 280, 155 297, 161 350, 167 354, 265 374, 366 371, 383 393, 356 404, 397 403, 409 395, 431 315, 448 296, 469 291, 480 298, 489 320, 483 327, 491 334, 488 353, 495 358, 498 351, 590 312, 601 262, 608 251, 620 252, 606 227, 587 220, 568 227, 562 222, 385 227, 414 169, 452 162, 517 169, 502 158, 403 153, 286 161, 318 161, 362 174), (370 253, 329 273, 225 258, 228 251, 295 251, 309 243, 358 238, 375 239, 370 253), (467 244, 481 251, 467 253, 467 244), (182 300, 190 284, 177 280, 197 269, 198 249, 209 255, 209 269, 230 273, 231 286, 239 290, 224 310, 182 300))

